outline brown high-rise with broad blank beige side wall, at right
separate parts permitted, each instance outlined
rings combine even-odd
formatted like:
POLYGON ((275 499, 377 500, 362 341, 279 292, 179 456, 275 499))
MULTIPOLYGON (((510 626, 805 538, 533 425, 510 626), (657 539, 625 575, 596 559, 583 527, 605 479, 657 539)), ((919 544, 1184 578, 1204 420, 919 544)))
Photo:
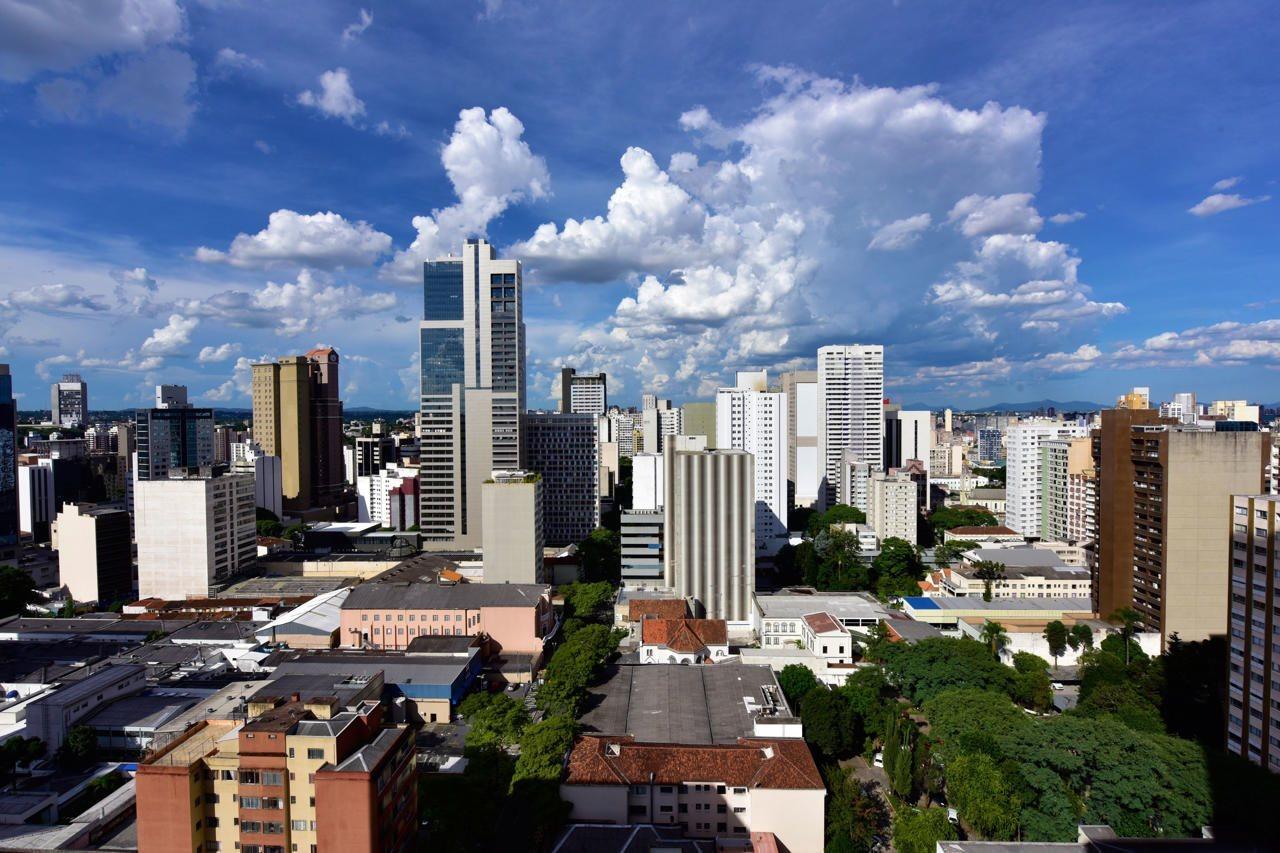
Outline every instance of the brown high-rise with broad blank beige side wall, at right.
POLYGON ((1165 643, 1228 630, 1233 494, 1262 488, 1262 433, 1108 410, 1093 435, 1097 612, 1132 607, 1165 643))

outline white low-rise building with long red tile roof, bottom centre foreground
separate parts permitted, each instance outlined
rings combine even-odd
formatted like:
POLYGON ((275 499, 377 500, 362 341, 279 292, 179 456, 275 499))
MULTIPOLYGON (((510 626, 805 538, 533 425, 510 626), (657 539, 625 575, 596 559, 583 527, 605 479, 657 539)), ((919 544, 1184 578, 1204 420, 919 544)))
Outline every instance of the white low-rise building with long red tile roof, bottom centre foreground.
POLYGON ((686 836, 726 840, 772 833, 787 850, 822 849, 826 793, 803 740, 758 738, 690 745, 582 736, 561 784, 571 821, 681 825, 686 836))

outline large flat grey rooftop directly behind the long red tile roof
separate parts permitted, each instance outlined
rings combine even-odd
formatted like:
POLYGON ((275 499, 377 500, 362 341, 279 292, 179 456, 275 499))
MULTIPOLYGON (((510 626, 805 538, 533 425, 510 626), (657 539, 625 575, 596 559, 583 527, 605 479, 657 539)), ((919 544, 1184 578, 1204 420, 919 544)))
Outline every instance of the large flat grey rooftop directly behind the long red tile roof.
POLYGON ((588 690, 586 734, 631 735, 643 743, 737 743, 754 736, 765 689, 777 702, 776 717, 790 717, 768 666, 716 663, 636 663, 609 667, 588 690))

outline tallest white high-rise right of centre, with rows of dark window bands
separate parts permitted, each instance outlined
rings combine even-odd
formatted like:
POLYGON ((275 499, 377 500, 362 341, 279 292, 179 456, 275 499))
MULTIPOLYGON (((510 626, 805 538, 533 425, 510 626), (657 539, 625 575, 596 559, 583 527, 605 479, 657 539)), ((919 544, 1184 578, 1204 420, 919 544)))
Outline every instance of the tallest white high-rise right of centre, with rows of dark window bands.
MULTIPOLYGON (((846 450, 879 470, 884 453, 884 347, 878 345, 818 350, 819 508, 851 497, 840 494, 846 450)), ((859 508, 867 508, 865 501, 859 508)))

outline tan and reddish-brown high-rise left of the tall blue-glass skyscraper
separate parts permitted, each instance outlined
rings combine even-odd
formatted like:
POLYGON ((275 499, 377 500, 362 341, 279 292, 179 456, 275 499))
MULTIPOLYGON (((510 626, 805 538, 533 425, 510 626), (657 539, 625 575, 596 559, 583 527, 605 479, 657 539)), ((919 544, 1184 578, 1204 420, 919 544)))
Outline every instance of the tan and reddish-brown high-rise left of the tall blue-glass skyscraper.
POLYGON ((285 512, 346 502, 338 352, 253 365, 253 441, 280 459, 285 512))

